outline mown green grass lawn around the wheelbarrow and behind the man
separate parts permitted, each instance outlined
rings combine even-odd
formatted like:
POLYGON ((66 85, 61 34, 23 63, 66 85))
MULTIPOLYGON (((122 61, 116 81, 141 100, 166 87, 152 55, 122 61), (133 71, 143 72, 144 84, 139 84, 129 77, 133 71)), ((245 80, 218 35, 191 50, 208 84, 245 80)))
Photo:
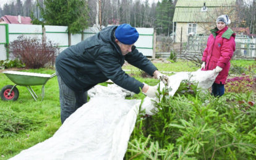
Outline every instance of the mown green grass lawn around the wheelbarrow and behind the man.
MULTIPOLYGON (((249 65, 255 61, 232 61, 231 64, 249 65)), ((193 67, 192 63, 177 61, 171 64, 155 64, 160 71, 181 72, 195 71, 199 67, 193 67)), ((156 85, 158 80, 142 78, 137 74, 139 69, 126 65, 123 69, 131 70, 129 74, 140 82, 156 85)), ((40 74, 53 74, 54 69, 22 70, 40 74)), ((14 85, 6 75, 0 73, 0 88, 5 85, 14 85)), ((59 87, 57 77, 51 78, 45 85, 45 98, 41 101, 41 86, 32 86, 39 96, 35 101, 27 88, 17 86, 20 96, 17 101, 1 101, 0 103, 0 159, 9 159, 19 154, 23 149, 30 148, 37 143, 51 137, 61 126, 59 87)), ((140 98, 142 93, 135 95, 140 98)))

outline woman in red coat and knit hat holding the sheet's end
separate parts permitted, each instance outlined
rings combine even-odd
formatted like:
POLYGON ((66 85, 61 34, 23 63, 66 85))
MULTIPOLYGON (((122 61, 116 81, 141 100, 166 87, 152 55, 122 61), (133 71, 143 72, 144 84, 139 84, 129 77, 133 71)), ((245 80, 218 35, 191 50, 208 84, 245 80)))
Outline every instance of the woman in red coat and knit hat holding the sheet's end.
POLYGON ((211 30, 211 35, 207 40, 207 48, 203 51, 202 70, 215 70, 218 76, 211 86, 211 95, 222 96, 224 94, 224 84, 228 77, 230 60, 236 49, 234 41, 236 33, 228 25, 231 23, 228 15, 221 15, 216 20, 216 25, 211 30))

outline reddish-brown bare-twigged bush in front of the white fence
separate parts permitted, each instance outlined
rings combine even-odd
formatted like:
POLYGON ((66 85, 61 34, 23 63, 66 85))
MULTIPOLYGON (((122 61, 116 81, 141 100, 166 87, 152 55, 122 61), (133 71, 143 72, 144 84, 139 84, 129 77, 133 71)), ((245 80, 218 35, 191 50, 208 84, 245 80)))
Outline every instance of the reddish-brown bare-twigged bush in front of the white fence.
POLYGON ((58 47, 51 41, 42 41, 38 38, 18 36, 9 45, 11 56, 20 59, 27 69, 39 69, 46 64, 54 63, 58 47))

